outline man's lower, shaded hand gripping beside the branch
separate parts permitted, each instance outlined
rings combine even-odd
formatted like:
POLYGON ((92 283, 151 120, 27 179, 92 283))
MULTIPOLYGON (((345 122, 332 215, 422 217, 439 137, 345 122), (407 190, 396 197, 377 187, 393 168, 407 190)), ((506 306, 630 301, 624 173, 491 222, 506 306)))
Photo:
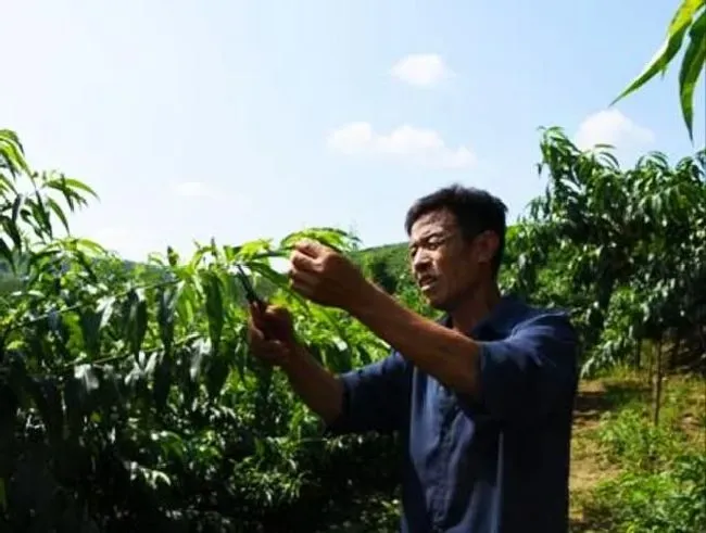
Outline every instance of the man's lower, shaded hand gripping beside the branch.
POLYGON ((270 365, 286 365, 297 350, 292 316, 285 307, 250 305, 248 343, 255 357, 270 365))

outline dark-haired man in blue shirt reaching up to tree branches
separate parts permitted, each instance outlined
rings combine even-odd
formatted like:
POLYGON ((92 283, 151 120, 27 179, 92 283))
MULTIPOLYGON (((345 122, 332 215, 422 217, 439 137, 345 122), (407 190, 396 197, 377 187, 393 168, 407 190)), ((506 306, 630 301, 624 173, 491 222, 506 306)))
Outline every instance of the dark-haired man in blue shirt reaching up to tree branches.
POLYGON ((283 369, 330 433, 401 433, 403 532, 568 530, 577 335, 564 314, 500 295, 505 212, 454 186, 407 213, 412 270, 441 321, 403 307, 332 250, 295 246, 293 290, 387 341, 393 351, 379 363, 333 376, 298 342, 287 310, 251 309, 253 353, 283 369))

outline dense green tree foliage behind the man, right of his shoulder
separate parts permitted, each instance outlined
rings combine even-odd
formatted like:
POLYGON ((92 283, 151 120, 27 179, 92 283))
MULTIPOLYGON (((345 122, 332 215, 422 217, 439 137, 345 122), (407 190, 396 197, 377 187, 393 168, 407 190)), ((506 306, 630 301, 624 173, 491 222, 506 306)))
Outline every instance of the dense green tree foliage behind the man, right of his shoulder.
MULTIPOLYGON (((659 342, 675 364, 703 365, 706 151, 676 164, 652 152, 622 168, 610 147, 581 151, 559 128, 542 131, 540 150, 546 189, 508 229, 503 289, 573 313, 584 375, 640 365, 659 342)), ((402 294, 405 245, 371 254, 389 257, 380 281, 395 272, 402 294)))

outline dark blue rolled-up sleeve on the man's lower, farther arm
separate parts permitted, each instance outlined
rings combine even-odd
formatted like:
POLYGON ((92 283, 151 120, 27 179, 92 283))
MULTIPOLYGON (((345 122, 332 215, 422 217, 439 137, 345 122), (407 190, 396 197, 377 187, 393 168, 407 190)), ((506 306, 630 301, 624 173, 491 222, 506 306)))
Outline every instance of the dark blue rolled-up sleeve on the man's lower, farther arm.
POLYGON ((396 352, 384 359, 345 372, 343 405, 327 435, 401 429, 409 410, 411 368, 396 352))

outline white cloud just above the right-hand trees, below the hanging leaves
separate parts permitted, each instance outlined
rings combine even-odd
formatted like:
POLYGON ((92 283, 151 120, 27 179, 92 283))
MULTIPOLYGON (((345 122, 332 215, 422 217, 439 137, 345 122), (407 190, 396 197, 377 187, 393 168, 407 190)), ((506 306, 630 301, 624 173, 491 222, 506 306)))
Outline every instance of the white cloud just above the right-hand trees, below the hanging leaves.
POLYGON ((634 149, 655 139, 652 130, 639 126, 616 109, 589 115, 579 125, 573 142, 581 150, 595 144, 612 144, 616 149, 634 149))

